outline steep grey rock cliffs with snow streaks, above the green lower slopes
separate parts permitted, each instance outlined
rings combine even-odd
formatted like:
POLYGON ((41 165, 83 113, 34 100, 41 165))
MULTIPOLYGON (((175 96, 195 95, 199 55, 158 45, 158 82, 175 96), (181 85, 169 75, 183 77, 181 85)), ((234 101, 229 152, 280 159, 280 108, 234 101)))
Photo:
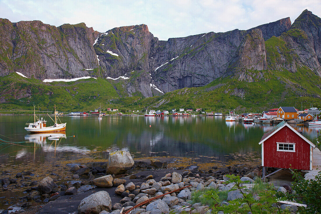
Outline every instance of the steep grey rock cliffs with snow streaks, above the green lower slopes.
POLYGON ((154 87, 169 92, 205 86, 224 76, 251 81, 248 71, 263 78, 267 69, 294 73, 299 66, 321 76, 320 23, 306 10, 292 26, 288 17, 249 30, 159 41, 144 24, 99 33, 84 23, 55 27, 0 19, 0 76, 124 76, 126 80, 119 80, 128 95, 144 97, 155 95, 154 87))

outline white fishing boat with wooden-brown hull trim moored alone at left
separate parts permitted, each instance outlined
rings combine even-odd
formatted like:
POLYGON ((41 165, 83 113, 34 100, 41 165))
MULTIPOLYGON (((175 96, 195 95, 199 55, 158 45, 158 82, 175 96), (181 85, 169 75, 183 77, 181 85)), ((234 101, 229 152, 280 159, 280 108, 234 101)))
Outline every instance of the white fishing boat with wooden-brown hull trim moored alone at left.
POLYGON ((46 126, 47 121, 44 120, 42 117, 41 119, 39 119, 36 116, 36 108, 34 106, 34 110, 33 110, 33 114, 34 114, 34 122, 33 123, 26 123, 26 125, 28 125, 28 127, 25 127, 24 129, 28 132, 31 133, 43 133, 43 132, 61 132, 61 131, 65 131, 66 130, 66 124, 67 123, 61 123, 60 119, 60 124, 57 123, 57 116, 56 116, 56 105, 55 105, 55 120, 53 120, 48 114, 48 116, 55 122, 54 125, 52 126, 46 126), (38 121, 36 121, 36 119, 38 121))

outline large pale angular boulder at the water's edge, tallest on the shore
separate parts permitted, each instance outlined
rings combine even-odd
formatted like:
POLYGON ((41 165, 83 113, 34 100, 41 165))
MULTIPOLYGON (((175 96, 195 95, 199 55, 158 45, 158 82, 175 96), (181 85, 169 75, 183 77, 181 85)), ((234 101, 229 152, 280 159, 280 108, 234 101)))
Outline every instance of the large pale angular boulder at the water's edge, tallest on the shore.
POLYGON ((130 169, 134 165, 134 160, 128 151, 109 152, 107 173, 119 174, 130 169))

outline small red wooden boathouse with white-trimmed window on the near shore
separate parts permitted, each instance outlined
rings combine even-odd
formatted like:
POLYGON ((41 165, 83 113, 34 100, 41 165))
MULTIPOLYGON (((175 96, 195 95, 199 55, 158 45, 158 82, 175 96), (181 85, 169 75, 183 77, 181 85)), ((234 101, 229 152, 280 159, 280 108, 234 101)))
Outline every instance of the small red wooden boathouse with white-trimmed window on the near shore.
POLYGON ((286 122, 265 133, 262 145, 263 178, 265 167, 312 170, 312 154, 316 147, 286 122))

